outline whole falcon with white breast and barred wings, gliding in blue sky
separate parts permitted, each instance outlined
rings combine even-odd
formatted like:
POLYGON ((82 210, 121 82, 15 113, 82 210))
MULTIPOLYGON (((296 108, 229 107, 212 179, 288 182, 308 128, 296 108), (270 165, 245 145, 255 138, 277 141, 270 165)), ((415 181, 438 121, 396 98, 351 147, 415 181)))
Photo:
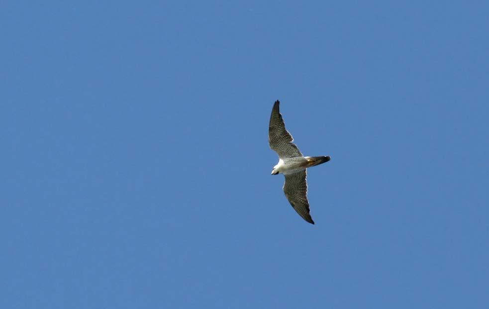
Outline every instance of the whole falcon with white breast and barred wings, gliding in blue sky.
POLYGON ((293 143, 293 137, 285 128, 284 119, 279 110, 280 102, 275 101, 270 116, 268 142, 270 148, 279 155, 279 163, 274 166, 272 175, 284 174, 284 193, 292 207, 307 222, 314 224, 309 213, 307 201, 306 169, 331 160, 330 156, 304 157, 293 143))

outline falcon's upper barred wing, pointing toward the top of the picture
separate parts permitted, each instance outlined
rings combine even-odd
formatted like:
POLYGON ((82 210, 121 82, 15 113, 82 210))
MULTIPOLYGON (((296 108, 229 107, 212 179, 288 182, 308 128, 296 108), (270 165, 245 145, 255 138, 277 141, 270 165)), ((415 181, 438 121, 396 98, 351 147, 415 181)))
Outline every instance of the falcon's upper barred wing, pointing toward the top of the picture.
POLYGON ((293 137, 285 128, 284 119, 279 110, 279 100, 275 101, 270 116, 270 126, 268 128, 268 142, 279 158, 302 157, 299 148, 292 142, 293 137))

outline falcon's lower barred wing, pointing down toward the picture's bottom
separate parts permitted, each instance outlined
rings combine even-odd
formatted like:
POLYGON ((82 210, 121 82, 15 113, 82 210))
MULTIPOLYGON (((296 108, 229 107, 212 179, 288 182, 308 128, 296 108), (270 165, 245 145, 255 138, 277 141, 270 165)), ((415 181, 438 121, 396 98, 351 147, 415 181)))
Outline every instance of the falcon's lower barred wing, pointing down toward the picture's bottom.
POLYGON ((314 224, 307 201, 306 170, 285 175, 284 193, 295 211, 307 222, 314 224))

